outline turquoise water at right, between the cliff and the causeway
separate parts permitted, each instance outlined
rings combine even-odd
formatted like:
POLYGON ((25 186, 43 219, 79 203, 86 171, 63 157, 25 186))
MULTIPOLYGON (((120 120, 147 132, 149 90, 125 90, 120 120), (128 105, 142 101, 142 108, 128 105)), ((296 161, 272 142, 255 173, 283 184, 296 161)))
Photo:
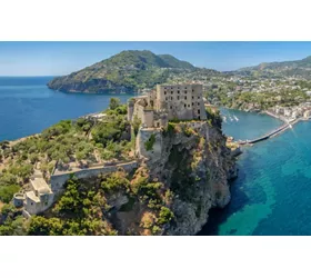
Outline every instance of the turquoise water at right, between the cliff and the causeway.
POLYGON ((200 235, 311 235, 310 142, 305 121, 245 148, 230 205, 213 210, 200 235))

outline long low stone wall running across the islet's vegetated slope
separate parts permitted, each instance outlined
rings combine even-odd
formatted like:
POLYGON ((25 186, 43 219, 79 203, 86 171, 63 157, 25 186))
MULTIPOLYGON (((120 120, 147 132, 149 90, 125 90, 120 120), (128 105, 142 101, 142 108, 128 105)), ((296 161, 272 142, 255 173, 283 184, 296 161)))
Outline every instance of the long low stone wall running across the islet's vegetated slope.
POLYGON ((138 167, 137 161, 130 161, 130 162, 119 163, 114 166, 93 167, 93 168, 82 169, 72 172, 53 175, 50 180, 51 189, 56 197, 59 196, 59 193, 61 193, 63 190, 63 185, 66 183, 67 180, 70 179, 71 175, 74 175, 74 177, 77 177, 78 179, 86 179, 86 178, 97 177, 100 173, 113 172, 117 171, 119 168, 122 168, 124 171, 130 172, 137 167, 138 167))

